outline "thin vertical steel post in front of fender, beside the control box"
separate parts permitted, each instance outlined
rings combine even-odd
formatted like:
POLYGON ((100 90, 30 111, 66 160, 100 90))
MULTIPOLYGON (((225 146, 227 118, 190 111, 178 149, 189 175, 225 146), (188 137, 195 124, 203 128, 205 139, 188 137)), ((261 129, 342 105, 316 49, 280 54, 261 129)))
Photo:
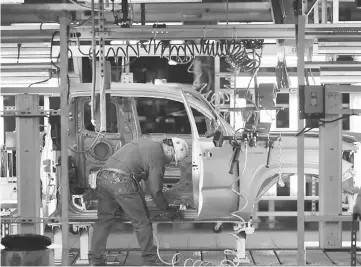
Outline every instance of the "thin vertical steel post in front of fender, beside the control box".
MULTIPOLYGON (((305 85, 305 26, 306 17, 299 15, 297 17, 297 77, 298 86, 305 85)), ((300 92, 298 98, 300 99, 300 92)), ((299 102, 299 101, 298 101, 299 102)), ((300 113, 299 113, 300 116, 300 113)), ((298 118, 298 131, 304 128, 304 120, 298 118)), ((300 134, 297 138, 297 264, 306 265, 306 251, 305 251, 305 139, 304 135, 300 134)))

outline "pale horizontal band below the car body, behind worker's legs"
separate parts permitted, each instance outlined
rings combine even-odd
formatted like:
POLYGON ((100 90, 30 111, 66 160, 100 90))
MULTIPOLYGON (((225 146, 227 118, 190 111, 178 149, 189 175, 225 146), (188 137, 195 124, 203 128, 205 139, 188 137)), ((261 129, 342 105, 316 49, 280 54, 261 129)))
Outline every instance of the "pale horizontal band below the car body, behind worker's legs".
MULTIPOLYGON (((230 235, 231 227, 225 226, 221 233, 212 231, 213 225, 161 224, 158 226, 158 239, 161 248, 171 249, 230 249, 235 248, 235 237, 230 235)), ((50 233, 48 233, 50 234, 50 233)), ((79 248, 79 237, 70 234, 71 248, 79 248)), ((306 246, 318 246, 318 231, 305 232, 306 246)), ((343 246, 351 246, 351 232, 343 231, 343 246)), ((256 230, 247 236, 247 249, 296 249, 295 230, 256 230)), ((108 238, 108 248, 139 248, 131 226, 115 226, 108 238)))

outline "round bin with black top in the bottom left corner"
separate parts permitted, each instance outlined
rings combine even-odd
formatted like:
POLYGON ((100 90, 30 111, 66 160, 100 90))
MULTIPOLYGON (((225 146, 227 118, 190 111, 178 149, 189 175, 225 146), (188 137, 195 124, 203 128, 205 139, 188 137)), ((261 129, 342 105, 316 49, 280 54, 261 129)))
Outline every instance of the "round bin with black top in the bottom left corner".
POLYGON ((42 235, 9 235, 1 239, 1 266, 54 266, 51 239, 42 235))

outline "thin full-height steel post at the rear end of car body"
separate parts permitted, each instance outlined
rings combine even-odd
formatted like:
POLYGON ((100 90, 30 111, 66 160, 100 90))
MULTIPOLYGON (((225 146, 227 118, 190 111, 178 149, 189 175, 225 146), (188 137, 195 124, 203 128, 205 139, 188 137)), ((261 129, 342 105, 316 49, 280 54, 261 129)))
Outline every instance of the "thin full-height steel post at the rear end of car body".
MULTIPOLYGON (((69 266, 69 178, 68 178, 68 17, 62 11, 60 17, 60 107, 61 107, 61 217, 62 217, 62 265, 69 266)), ((39 165, 37 165, 39 166, 39 165)), ((38 167, 39 169, 39 167, 38 167)))

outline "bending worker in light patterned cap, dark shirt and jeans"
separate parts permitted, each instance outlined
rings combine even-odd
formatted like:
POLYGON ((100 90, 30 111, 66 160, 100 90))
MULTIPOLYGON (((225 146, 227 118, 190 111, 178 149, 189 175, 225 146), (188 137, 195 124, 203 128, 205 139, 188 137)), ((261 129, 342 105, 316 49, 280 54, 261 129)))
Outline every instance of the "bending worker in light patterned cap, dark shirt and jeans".
POLYGON ((89 179, 91 187, 96 186, 98 193, 98 220, 94 224, 89 254, 92 265, 105 264, 107 238, 119 205, 133 224, 144 264, 163 265, 153 243, 152 224, 139 181, 148 182, 148 190, 157 207, 169 219, 175 219, 179 210, 169 206, 162 193, 165 165, 177 164, 188 156, 188 152, 187 143, 177 137, 162 142, 138 139, 116 151, 104 167, 89 179))

